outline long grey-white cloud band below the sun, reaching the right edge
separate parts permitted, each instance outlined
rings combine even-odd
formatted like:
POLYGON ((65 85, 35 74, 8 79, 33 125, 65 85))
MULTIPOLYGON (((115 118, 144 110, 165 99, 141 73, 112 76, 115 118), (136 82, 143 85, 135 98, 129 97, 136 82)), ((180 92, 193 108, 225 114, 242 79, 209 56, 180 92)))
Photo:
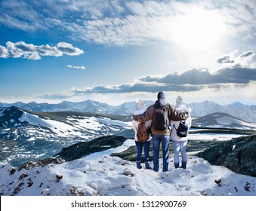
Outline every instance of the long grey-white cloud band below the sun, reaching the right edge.
MULTIPOLYGON (((231 87, 249 87, 256 81, 256 65, 251 61, 254 52, 248 50, 235 57, 237 52, 222 56, 219 59, 221 63, 219 69, 188 69, 166 75, 147 75, 126 84, 73 88, 70 93, 74 96, 88 93, 157 93, 161 90, 192 93, 205 90, 218 92, 231 87), (223 66, 223 63, 228 66, 223 66)), ((75 68, 70 65, 68 67, 75 68)))

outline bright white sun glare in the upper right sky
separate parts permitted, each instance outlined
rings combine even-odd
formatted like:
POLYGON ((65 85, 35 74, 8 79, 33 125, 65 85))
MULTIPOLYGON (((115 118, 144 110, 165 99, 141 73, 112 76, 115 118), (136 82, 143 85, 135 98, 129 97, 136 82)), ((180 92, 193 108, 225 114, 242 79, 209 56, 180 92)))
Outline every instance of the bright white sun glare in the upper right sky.
POLYGON ((226 32, 217 11, 191 8, 180 14, 172 26, 172 40, 190 52, 204 52, 216 46, 226 32))

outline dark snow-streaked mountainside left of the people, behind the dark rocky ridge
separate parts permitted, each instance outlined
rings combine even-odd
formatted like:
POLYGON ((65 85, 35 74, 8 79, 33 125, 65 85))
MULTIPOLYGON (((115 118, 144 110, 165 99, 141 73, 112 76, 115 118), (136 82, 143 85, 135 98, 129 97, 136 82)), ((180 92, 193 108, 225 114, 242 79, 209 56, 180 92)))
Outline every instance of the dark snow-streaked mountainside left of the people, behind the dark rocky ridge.
POLYGON ((61 148, 131 129, 131 117, 0 108, 0 161, 15 166, 50 157, 61 148))

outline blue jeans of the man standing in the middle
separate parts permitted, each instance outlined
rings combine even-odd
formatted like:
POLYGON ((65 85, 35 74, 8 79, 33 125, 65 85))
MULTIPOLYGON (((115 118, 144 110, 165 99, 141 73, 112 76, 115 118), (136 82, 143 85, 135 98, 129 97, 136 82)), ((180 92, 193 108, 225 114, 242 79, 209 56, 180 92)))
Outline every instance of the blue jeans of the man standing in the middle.
POLYGON ((159 149, 162 142, 162 171, 168 171, 170 136, 153 134, 153 170, 159 171, 159 149))

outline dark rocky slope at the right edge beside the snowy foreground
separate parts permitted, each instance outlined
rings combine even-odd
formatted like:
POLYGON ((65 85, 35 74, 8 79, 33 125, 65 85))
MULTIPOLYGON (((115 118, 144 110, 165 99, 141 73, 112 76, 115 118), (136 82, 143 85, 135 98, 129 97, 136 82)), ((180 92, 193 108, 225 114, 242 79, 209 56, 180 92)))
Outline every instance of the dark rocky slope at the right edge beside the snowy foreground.
POLYGON ((256 135, 242 136, 196 154, 210 164, 256 177, 256 135))

